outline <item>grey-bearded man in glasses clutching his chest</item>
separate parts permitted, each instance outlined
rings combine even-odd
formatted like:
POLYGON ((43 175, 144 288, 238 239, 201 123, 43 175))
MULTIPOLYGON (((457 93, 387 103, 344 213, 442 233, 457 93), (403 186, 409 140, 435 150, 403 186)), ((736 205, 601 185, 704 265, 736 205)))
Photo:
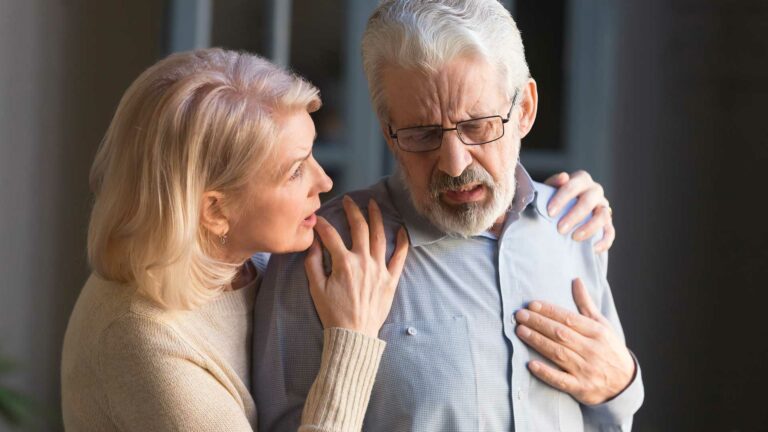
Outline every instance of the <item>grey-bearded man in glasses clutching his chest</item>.
MULTIPOLYGON (((351 197, 375 199, 388 238, 404 225, 411 242, 364 429, 629 430, 643 387, 607 257, 559 235, 553 190, 518 162, 537 90, 509 13, 495 0, 384 1, 363 61, 398 172, 351 197)), ((322 214, 347 233, 340 200, 322 214)), ((302 266, 274 257, 257 299, 260 430, 294 430, 317 372, 302 266)))

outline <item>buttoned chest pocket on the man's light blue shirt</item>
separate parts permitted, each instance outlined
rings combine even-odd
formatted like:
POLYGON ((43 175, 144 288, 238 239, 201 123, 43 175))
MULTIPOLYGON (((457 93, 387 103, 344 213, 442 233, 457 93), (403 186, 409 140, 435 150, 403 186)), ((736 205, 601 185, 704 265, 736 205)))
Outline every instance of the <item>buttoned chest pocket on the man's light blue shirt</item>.
POLYGON ((477 430, 477 380, 466 318, 386 324, 366 431, 477 430))

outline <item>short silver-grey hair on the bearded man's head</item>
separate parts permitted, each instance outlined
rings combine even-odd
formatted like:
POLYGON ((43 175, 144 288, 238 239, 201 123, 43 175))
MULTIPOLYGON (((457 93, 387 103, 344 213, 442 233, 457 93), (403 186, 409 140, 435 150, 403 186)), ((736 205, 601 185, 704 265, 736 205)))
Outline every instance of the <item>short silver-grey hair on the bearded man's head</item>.
POLYGON ((496 65, 508 98, 530 77, 515 21, 497 0, 384 0, 363 35, 363 68, 373 108, 389 119, 382 91, 386 67, 434 72, 462 55, 496 65))

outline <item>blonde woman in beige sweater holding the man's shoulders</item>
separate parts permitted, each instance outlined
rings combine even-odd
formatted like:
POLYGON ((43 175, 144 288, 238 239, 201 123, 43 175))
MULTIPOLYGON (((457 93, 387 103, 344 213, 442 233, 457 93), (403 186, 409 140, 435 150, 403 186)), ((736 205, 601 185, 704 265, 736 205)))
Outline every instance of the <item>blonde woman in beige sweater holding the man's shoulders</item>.
MULTIPOLYGON (((315 216, 331 188, 312 157, 319 107, 300 77, 220 49, 172 55, 127 90, 91 171, 93 275, 62 359, 68 430, 253 430, 250 257, 305 249, 325 334, 301 430, 360 430, 408 243, 401 229, 386 262, 374 202, 368 225, 345 204, 350 224, 370 227, 351 250, 315 216)), ((560 199, 604 204, 583 177, 553 182, 568 186, 560 199)))

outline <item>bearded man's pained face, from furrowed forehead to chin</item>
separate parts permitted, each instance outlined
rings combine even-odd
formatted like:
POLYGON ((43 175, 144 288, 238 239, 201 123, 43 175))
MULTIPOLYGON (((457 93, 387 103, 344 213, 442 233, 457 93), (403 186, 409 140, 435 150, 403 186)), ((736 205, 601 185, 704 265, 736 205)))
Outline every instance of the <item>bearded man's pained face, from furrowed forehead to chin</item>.
POLYGON ((476 235, 502 222, 515 194, 520 152, 517 109, 504 136, 482 145, 465 145, 456 131, 443 133, 440 148, 413 153, 398 147, 392 131, 442 125, 472 118, 506 118, 512 101, 496 68, 477 57, 460 57, 436 73, 389 68, 382 74, 389 125, 382 125, 390 149, 405 175, 416 209, 449 234, 476 235))

